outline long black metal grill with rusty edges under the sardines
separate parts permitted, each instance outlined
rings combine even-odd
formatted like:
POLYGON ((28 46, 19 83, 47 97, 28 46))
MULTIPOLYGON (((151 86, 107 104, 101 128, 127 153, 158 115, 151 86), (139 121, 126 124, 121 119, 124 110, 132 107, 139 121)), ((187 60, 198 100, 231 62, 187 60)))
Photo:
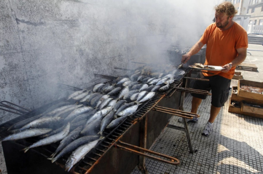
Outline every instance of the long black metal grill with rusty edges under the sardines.
MULTIPOLYGON (((129 69, 122 70, 129 71, 129 69)), ((113 130, 106 131, 105 138, 101 140, 101 142, 99 142, 96 147, 85 156, 83 160, 77 163, 70 172, 130 173, 134 166, 138 164, 141 170, 146 171, 144 165, 145 157, 159 160, 165 163, 172 163, 175 165, 179 164, 179 160, 176 158, 149 151, 147 149, 149 149, 150 146, 154 143, 155 139, 158 137, 162 129, 168 126, 167 123, 171 118, 171 115, 181 116, 183 118, 189 119, 199 116, 197 114, 183 111, 182 104, 184 100, 184 93, 191 92, 208 94, 208 92, 186 88, 188 79, 201 79, 189 77, 189 75, 191 74, 191 68, 183 67, 183 70, 186 73, 184 75, 178 76, 177 79, 175 79, 174 83, 169 86, 169 89, 167 91, 163 93, 156 93, 151 100, 140 105, 137 111, 131 117, 127 117, 127 119, 125 119, 113 130), (173 104, 171 105, 171 103, 173 104), (171 107, 169 107, 169 105, 171 105, 171 107), (160 112, 163 113, 161 116, 160 112)), ((114 76, 107 76, 102 74, 94 75, 110 80, 114 80, 115 78, 117 78, 114 76)), ((63 84, 60 84, 60 87, 73 91, 80 90, 79 88, 63 84)), ((12 103, 7 102, 8 104, 4 104, 6 101, 2 101, 2 107, 7 107, 9 109, 18 111, 20 113, 13 113, 20 114, 20 116, 0 126, 2 130, 1 137, 9 134, 6 129, 14 123, 29 118, 32 115, 39 114, 54 103, 63 100, 65 100, 65 98, 50 102, 49 104, 46 104, 32 111, 28 111, 22 107, 20 107, 20 109, 15 109, 14 107, 8 105, 12 103)), ((18 105, 15 106, 19 107, 18 105)), ((190 143, 190 152, 193 153, 186 123, 184 124, 184 126, 188 137, 188 144, 190 143)), ((58 143, 53 143, 51 145, 46 145, 43 147, 36 147, 30 149, 25 154, 20 151, 24 147, 31 145, 37 140, 37 138, 27 138, 25 140, 2 142, 8 173, 23 173, 25 171, 25 173, 66 173, 64 171, 64 165, 65 161, 68 159, 68 155, 65 155, 62 158, 58 159, 55 164, 46 159, 56 150, 59 145, 58 143), (13 156, 15 156, 15 158, 13 156), (16 166, 15 168, 14 165, 16 166), (41 166, 43 167, 43 169, 39 170, 41 166), (20 170, 19 168, 22 168, 22 170, 20 170)))

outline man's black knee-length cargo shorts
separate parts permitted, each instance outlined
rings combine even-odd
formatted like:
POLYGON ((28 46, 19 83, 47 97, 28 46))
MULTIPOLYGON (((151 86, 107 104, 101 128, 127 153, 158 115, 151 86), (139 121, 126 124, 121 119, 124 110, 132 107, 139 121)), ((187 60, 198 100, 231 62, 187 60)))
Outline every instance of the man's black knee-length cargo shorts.
MULTIPOLYGON (((211 90, 212 93, 211 104, 214 107, 224 106, 224 103, 227 101, 229 96, 231 80, 226 79, 219 75, 203 77, 203 79, 209 79, 209 81, 196 80, 193 88, 198 90, 205 90, 209 92, 211 90)), ((193 94, 193 93, 192 96, 200 99, 206 99, 207 97, 207 95, 193 94)))

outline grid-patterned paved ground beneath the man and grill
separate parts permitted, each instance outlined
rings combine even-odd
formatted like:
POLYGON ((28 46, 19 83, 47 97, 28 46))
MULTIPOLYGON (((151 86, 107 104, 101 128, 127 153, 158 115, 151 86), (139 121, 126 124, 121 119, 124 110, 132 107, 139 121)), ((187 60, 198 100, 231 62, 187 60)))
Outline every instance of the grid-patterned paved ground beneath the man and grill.
MULTIPOLYGON (((236 70, 245 80, 263 82, 263 52, 250 51, 244 63, 256 64, 258 72, 236 70)), ((237 86, 238 80, 231 85, 237 86)), ((230 94, 229 96, 231 95, 230 94)), ((184 132, 165 128, 151 150, 174 156, 180 160, 179 166, 146 159, 149 173, 263 173, 263 119, 229 113, 229 100, 222 107, 214 123, 214 132, 206 137, 201 135, 209 118, 211 98, 203 100, 198 110, 198 123, 188 123, 195 154, 189 153, 184 132)), ((191 95, 184 101, 184 110, 191 110, 191 95)), ((183 126, 174 116, 170 124, 183 126)), ((132 174, 141 173, 136 168, 132 174)))

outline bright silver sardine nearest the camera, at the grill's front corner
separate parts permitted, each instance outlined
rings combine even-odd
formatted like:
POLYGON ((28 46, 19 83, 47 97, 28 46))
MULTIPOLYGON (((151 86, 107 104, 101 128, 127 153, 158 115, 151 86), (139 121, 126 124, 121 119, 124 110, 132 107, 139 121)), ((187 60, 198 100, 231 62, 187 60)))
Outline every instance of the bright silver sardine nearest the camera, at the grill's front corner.
POLYGON ((72 152, 72 154, 70 155, 70 157, 68 158, 66 165, 65 165, 65 169, 66 171, 70 171, 70 169, 77 163, 79 162, 82 158, 84 158, 84 156, 91 150, 93 149, 96 144, 98 143, 100 139, 92 141, 86 145, 82 145, 80 147, 78 147, 74 152, 72 152))

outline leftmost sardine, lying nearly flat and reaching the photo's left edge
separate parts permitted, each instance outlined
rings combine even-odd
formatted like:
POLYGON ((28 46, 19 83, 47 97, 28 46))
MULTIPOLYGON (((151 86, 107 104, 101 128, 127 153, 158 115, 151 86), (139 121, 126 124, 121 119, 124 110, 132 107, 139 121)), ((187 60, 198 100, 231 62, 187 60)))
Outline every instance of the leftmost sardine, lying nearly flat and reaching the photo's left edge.
POLYGON ((35 137, 35 136, 39 136, 39 135, 43 135, 45 133, 48 133, 51 130, 52 129, 48 129, 48 128, 27 129, 27 130, 23 130, 21 132, 18 132, 18 133, 12 134, 12 135, 8 135, 5 138, 1 139, 0 141, 20 140, 23 138, 35 137))

